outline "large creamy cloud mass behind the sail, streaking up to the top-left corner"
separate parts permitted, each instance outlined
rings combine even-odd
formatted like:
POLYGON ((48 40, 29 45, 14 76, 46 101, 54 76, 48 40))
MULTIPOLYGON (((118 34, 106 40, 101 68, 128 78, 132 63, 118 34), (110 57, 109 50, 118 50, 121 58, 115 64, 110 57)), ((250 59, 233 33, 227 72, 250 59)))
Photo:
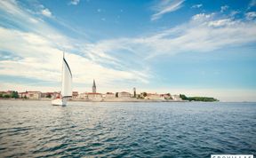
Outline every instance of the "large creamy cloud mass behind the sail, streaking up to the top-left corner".
POLYGON ((65 49, 68 51, 66 56, 75 83, 91 84, 92 78, 98 78, 98 83, 105 86, 122 81, 148 83, 146 71, 134 71, 125 66, 125 63, 128 63, 125 60, 120 64, 119 59, 106 53, 108 47, 112 47, 111 44, 77 41, 60 34, 44 20, 40 20, 40 16, 23 10, 15 1, 0 3, 4 17, 9 21, 13 20, 12 24, 17 25, 17 28, 0 27, 0 51, 17 57, 0 60, 0 75, 32 78, 44 82, 60 81, 60 59, 65 49), (8 6, 8 10, 4 6, 8 6), (20 27, 26 28, 26 31, 20 27))

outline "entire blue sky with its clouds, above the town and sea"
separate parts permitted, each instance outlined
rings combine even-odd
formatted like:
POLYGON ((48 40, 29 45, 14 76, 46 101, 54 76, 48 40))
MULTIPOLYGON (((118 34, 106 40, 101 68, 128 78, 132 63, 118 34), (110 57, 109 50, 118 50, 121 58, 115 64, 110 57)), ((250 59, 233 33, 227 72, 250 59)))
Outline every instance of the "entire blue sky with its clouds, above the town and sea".
POLYGON ((0 89, 256 101, 256 0, 0 1, 0 89))

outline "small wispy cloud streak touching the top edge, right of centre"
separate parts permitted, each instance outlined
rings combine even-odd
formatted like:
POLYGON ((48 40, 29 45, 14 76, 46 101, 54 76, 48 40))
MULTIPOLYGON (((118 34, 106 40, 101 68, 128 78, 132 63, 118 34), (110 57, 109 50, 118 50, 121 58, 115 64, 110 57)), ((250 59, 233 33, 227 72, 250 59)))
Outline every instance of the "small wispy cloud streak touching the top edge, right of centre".
POLYGON ((156 4, 153 7, 153 10, 156 11, 155 14, 151 16, 151 20, 158 20, 164 14, 168 12, 175 12, 179 10, 183 4, 184 0, 163 0, 159 4, 156 4))

